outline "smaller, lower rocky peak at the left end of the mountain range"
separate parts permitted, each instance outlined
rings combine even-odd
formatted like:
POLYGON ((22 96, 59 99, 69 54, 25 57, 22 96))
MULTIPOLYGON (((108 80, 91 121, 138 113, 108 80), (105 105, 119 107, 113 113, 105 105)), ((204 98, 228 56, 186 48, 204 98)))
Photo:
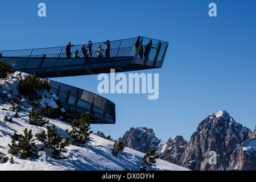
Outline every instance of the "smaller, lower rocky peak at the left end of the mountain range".
POLYGON ((160 140, 155 137, 152 129, 146 127, 132 127, 118 140, 123 140, 126 147, 141 151, 147 154, 151 149, 156 148, 160 140))

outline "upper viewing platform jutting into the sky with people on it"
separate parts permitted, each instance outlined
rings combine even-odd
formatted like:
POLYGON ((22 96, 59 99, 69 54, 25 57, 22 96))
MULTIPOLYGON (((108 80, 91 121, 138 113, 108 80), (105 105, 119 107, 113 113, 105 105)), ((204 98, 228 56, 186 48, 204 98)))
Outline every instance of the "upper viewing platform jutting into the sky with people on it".
POLYGON ((63 47, 0 51, 0 61, 42 78, 161 68, 168 42, 145 37, 63 47), (68 48, 67 48, 68 47, 68 48))

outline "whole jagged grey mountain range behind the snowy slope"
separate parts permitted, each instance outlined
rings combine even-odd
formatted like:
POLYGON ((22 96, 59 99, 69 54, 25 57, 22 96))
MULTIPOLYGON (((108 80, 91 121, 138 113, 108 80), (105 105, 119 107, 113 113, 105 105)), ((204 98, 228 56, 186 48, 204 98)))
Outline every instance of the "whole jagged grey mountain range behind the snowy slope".
POLYGON ((256 170, 256 127, 251 131, 228 112, 209 114, 199 123, 189 142, 178 135, 160 142, 152 129, 131 128, 123 135, 126 147, 147 153, 158 149, 160 159, 192 170, 256 170), (210 164, 215 152, 216 164, 210 164))

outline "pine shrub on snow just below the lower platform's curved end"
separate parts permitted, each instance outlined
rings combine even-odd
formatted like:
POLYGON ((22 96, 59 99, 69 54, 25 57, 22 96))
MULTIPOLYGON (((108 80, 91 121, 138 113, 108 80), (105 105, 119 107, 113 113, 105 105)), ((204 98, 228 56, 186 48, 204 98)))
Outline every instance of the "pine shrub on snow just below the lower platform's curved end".
POLYGON ((86 143, 89 140, 89 135, 92 131, 90 130, 90 119, 89 113, 81 114, 79 120, 73 119, 71 122, 72 130, 69 132, 68 129, 66 133, 73 139, 73 144, 79 146, 79 144, 86 143))

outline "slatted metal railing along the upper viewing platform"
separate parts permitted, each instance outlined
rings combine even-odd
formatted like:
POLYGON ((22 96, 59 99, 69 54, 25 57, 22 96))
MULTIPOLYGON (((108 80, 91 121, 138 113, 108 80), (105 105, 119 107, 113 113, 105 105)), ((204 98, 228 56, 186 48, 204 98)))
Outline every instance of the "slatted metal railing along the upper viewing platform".
MULTIPOLYGON (((110 55, 109 57, 133 57, 135 55, 134 51, 134 44, 137 38, 130 38, 130 39, 121 39, 121 40, 113 40, 110 42, 110 55)), ((166 53, 166 49, 168 47, 168 42, 164 42, 161 40, 150 39, 150 38, 141 38, 143 47, 146 45, 147 42, 152 41, 152 48, 148 55, 149 60, 154 60, 155 55, 156 61, 162 61, 163 56, 166 53), (159 44, 160 42, 160 44, 159 44), (159 48, 160 45, 160 48, 159 48), (159 50, 158 50, 159 48, 159 50)), ((92 56, 97 57, 96 49, 98 46, 102 47, 104 50, 103 55, 105 54, 105 44, 104 42, 100 43, 93 43, 92 45, 92 56)), ((87 47, 88 44, 85 44, 87 47)), ((62 47, 50 47, 50 48, 36 48, 36 49, 22 49, 22 50, 13 50, 13 51, 0 51, 0 55, 2 57, 23 57, 23 58, 65 58, 66 56, 66 46, 62 47)), ((82 57, 82 44, 75 45, 71 47, 71 57, 77 51, 77 56, 82 57)))

